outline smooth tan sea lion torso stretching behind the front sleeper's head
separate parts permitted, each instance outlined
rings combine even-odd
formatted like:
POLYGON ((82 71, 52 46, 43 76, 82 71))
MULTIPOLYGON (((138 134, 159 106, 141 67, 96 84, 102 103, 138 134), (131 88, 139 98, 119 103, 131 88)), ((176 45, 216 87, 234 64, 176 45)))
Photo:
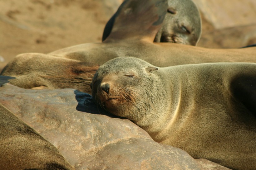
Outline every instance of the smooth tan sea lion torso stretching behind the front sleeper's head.
MULTIPOLYGON (((206 49, 174 43, 150 43, 146 39, 90 43, 68 47, 49 55, 102 65, 120 56, 137 57, 158 67, 216 62, 256 63, 256 47, 206 49)), ((24 54, 23 54, 24 55, 24 54)))

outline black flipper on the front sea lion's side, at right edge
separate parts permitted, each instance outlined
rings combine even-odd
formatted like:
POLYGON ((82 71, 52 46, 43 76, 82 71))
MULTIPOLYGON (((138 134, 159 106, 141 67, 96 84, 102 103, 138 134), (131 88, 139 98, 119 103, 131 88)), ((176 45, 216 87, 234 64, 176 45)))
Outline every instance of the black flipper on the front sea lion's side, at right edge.
POLYGON ((237 101, 256 116, 256 76, 239 76, 231 82, 231 89, 237 101))

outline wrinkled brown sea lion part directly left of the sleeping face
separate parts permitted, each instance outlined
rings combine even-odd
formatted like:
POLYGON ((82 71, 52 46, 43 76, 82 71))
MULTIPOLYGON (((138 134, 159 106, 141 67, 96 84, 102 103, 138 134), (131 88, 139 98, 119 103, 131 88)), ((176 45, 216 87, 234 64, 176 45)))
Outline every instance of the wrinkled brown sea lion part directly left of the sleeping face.
POLYGON ((93 73, 99 65, 73 59, 52 57, 46 54, 30 53, 19 56, 2 70, 3 75, 16 75, 11 84, 32 89, 74 88, 90 92, 93 73), (40 61, 43 59, 43 62, 40 61), (16 68, 19 68, 17 73, 16 68), (7 70, 5 70, 7 69, 7 70))

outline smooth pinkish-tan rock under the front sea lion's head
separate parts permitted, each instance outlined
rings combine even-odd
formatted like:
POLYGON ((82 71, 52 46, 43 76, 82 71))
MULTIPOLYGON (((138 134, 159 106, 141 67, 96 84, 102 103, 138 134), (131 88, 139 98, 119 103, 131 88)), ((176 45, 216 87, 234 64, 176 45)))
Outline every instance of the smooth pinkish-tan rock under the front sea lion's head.
POLYGON ((228 169, 153 141, 130 120, 97 108, 89 94, 8 84, 0 91, 0 103, 56 146, 77 170, 228 169))

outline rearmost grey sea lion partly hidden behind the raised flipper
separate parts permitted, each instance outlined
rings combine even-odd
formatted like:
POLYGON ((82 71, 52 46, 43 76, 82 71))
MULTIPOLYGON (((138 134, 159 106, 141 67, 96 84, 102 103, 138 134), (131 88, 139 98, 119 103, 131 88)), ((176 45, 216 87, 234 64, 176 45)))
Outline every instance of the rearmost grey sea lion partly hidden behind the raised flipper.
MULTIPOLYGON (((119 10, 107 22, 102 41, 110 35, 119 10)), ((202 21, 194 2, 191 0, 168 0, 167 13, 154 42, 196 45, 201 34, 202 21)))

